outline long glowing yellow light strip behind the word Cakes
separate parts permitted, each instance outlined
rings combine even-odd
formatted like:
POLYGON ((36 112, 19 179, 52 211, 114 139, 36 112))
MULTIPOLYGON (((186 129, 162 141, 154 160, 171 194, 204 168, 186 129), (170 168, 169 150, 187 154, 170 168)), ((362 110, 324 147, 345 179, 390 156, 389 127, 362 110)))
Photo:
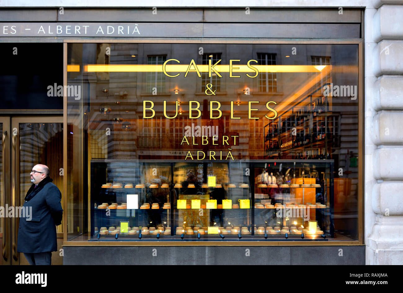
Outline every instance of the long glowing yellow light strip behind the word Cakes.
MULTIPOLYGON (((69 66, 69 65, 68 65, 69 66)), ((232 72, 243 73, 243 72, 321 72, 327 65, 252 65, 248 67, 247 65, 236 65, 233 64, 232 72), (236 69, 234 67, 239 67, 236 69)), ((186 72, 189 65, 175 65, 167 64, 165 69, 167 72, 186 72)), ((216 71, 220 73, 230 72, 229 65, 216 65, 213 67, 216 71)), ((208 65, 197 65, 199 72, 209 72, 208 65)), ((149 65, 149 64, 87 64, 84 66, 85 72, 162 72, 162 65, 149 65)), ((190 66, 190 72, 194 72, 195 67, 190 66)))

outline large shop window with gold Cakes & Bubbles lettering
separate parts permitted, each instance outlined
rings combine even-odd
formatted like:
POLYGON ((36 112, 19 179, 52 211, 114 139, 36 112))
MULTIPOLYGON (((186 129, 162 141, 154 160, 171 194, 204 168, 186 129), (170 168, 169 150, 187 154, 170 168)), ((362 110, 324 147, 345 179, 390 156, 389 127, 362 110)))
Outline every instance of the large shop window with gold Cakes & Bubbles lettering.
POLYGON ((68 44, 68 239, 357 240, 358 45, 201 46, 68 44))

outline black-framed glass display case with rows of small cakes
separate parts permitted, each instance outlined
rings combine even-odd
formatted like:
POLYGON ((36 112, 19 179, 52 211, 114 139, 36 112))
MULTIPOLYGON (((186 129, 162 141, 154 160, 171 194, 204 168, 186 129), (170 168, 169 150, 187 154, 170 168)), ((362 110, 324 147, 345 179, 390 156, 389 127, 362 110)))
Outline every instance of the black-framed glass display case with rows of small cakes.
POLYGON ((326 241, 333 180, 332 160, 91 160, 91 240, 326 241))

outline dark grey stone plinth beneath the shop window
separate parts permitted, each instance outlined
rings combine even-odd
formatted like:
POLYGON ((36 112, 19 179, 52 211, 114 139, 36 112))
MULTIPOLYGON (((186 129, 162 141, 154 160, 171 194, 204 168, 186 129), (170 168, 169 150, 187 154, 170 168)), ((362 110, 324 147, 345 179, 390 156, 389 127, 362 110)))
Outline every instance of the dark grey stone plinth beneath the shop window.
POLYGON ((65 265, 130 264, 349 264, 365 265, 365 245, 354 246, 65 246, 65 265))

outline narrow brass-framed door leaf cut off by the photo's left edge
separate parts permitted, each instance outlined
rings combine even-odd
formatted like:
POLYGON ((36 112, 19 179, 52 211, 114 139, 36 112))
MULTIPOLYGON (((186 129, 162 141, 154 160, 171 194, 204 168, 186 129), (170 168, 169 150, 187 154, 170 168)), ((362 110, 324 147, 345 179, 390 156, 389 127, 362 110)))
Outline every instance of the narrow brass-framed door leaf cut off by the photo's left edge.
MULTIPOLYGON (((0 123, 3 125, 3 135, 0 139, 2 139, 2 166, 3 166, 3 193, 0 194, 2 197, 2 204, 4 207, 10 205, 10 178, 11 172, 7 172, 6 170, 10 170, 10 117, 0 117, 0 123)), ((5 211, 6 212, 6 211, 5 211)), ((10 264, 11 262, 11 242, 10 242, 10 227, 11 222, 10 218, 0 218, 3 225, 3 232, 0 233, 0 237, 2 238, 2 247, 1 247, 1 258, 2 264, 10 264)))

